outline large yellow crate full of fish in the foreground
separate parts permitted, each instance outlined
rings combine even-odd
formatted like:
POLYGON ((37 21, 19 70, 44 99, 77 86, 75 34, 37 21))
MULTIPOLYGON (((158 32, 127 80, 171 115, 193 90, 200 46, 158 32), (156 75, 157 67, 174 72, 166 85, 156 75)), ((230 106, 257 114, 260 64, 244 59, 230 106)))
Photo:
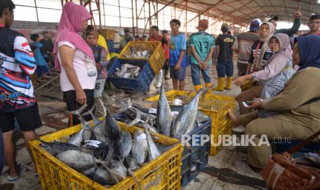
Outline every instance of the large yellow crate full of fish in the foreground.
MULTIPOLYGON (((131 134, 136 129, 142 129, 139 127, 127 127, 120 122, 119 124, 122 130, 129 131, 131 134)), ((81 125, 76 125, 42 136, 41 140, 46 142, 63 140, 80 129, 81 125)), ((175 138, 169 138, 161 134, 154 134, 154 136, 156 136, 155 142, 171 145, 171 149, 134 172, 135 179, 129 176, 109 189, 180 189, 182 145, 175 138)), ((107 189, 68 167, 39 147, 39 144, 39 140, 30 142, 42 189, 107 189)))

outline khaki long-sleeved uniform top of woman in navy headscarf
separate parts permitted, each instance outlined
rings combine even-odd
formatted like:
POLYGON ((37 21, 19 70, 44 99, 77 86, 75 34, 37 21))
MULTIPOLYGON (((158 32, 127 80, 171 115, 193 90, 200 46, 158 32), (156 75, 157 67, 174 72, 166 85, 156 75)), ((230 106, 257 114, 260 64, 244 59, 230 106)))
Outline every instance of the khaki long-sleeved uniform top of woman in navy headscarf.
POLYGON ((320 101, 303 105, 320 97, 320 69, 308 67, 292 76, 284 90, 277 96, 262 102, 264 109, 282 110, 275 117, 306 127, 320 128, 320 101), (301 106, 302 105, 302 106, 301 106))

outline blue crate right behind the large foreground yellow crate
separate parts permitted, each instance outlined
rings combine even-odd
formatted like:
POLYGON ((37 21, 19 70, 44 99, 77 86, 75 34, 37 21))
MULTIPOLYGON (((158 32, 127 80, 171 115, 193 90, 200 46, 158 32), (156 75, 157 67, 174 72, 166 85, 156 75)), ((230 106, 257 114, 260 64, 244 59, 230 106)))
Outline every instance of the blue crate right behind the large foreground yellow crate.
MULTIPOLYGON (((193 130, 189 135, 211 135, 211 120, 204 122, 193 130)), ((181 165, 181 185, 186 186, 193 180, 200 171, 204 170, 208 164, 210 153, 210 140, 208 142, 201 142, 200 136, 195 138, 195 142, 200 146, 194 145, 192 147, 184 147, 182 152, 182 165, 181 165), (201 146, 203 144, 203 146, 201 146)), ((192 138, 189 143, 193 145, 192 138)))

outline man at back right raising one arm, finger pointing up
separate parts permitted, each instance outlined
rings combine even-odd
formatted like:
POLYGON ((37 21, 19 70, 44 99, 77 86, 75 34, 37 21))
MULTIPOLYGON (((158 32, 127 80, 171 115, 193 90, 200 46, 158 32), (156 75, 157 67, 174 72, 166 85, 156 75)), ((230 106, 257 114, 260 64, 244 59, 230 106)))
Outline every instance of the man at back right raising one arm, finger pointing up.
MULTIPOLYGON (((302 16, 302 13, 300 11, 300 6, 298 7, 298 10, 296 12, 294 12, 294 16, 295 16, 295 21, 293 21, 293 25, 292 25, 292 28, 283 28, 283 29, 278 29, 278 30, 275 30, 275 34, 278 34, 278 33, 284 33, 284 34, 288 34, 289 37, 293 36, 293 34, 296 34, 298 31, 299 31, 299 28, 300 28, 300 25, 301 25, 301 16, 302 16)), ((275 16, 275 17, 272 17, 272 16, 268 16, 264 19, 264 22, 270 22, 270 23, 273 23, 273 25, 275 25, 275 28, 277 28, 277 20, 279 19, 279 17, 275 16)))

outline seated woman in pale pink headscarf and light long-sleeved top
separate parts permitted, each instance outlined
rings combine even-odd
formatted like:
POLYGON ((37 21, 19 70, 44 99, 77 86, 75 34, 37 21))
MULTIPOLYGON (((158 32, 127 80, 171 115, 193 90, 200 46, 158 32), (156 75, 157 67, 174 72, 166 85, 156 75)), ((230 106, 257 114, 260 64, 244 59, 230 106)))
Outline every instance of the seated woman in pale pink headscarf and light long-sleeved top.
POLYGON ((268 99, 276 96, 296 72, 292 67, 292 50, 287 34, 275 34, 269 41, 269 47, 274 54, 268 59, 263 70, 239 76, 235 80, 236 85, 244 85, 247 81, 258 82, 257 86, 237 96, 241 114, 249 112, 242 102, 252 101, 253 98, 268 99))

